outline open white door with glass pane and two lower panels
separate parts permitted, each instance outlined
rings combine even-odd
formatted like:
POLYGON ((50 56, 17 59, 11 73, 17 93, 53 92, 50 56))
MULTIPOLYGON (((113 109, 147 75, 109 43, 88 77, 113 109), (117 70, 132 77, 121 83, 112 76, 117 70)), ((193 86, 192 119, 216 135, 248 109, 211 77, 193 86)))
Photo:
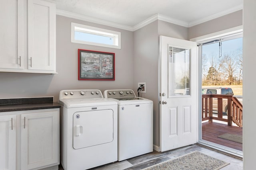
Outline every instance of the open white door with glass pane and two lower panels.
POLYGON ((160 36, 160 151, 196 143, 196 43, 160 36))

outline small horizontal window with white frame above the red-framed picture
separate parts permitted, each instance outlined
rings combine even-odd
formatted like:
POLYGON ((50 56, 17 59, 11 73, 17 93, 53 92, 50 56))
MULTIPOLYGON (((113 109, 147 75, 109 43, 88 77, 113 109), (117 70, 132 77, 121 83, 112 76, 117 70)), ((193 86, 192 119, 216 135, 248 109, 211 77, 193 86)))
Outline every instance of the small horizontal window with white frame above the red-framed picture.
POLYGON ((71 42, 121 49, 121 33, 108 29, 71 23, 71 42))

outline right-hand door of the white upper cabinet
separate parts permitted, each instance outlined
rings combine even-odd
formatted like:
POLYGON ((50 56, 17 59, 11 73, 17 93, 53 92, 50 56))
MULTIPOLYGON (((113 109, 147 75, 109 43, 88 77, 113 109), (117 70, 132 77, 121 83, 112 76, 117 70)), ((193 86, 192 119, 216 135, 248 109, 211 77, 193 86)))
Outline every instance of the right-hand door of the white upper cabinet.
POLYGON ((28 0, 28 69, 56 71, 56 4, 28 0))

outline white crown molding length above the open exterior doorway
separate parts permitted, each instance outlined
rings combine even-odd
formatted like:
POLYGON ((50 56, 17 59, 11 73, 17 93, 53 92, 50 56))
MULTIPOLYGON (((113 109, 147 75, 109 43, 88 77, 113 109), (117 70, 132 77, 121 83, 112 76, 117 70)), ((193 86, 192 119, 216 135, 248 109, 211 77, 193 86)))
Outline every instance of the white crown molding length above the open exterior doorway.
POLYGON ((195 26, 195 25, 198 25, 200 23, 204 23, 206 21, 210 21, 210 20, 213 20, 213 19, 216 19, 216 18, 219 18, 219 17, 222 17, 222 16, 225 16, 227 14, 231 14, 232 12, 236 12, 236 11, 239 11, 239 10, 242 10, 243 9, 243 5, 240 5, 240 6, 236 6, 234 8, 231 8, 231 9, 228 9, 226 11, 223 11, 223 12, 219 12, 217 14, 214 14, 212 16, 208 16, 208 17, 205 17, 205 18, 202 18, 200 20, 195 20, 195 21, 192 21, 188 24, 188 27, 192 27, 192 26, 195 26))

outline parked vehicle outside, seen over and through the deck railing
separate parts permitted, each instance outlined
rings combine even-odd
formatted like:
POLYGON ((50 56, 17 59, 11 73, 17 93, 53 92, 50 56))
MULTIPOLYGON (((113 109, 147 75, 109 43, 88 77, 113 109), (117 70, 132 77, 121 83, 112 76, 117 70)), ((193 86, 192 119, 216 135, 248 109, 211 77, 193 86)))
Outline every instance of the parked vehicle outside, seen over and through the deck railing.
MULTIPOLYGON (((232 88, 202 88, 202 94, 223 94, 223 95, 234 95, 232 88)), ((222 99, 222 112, 227 112, 228 110, 228 100, 222 99)), ((212 111, 218 112, 218 98, 213 98, 212 100, 212 111)))

